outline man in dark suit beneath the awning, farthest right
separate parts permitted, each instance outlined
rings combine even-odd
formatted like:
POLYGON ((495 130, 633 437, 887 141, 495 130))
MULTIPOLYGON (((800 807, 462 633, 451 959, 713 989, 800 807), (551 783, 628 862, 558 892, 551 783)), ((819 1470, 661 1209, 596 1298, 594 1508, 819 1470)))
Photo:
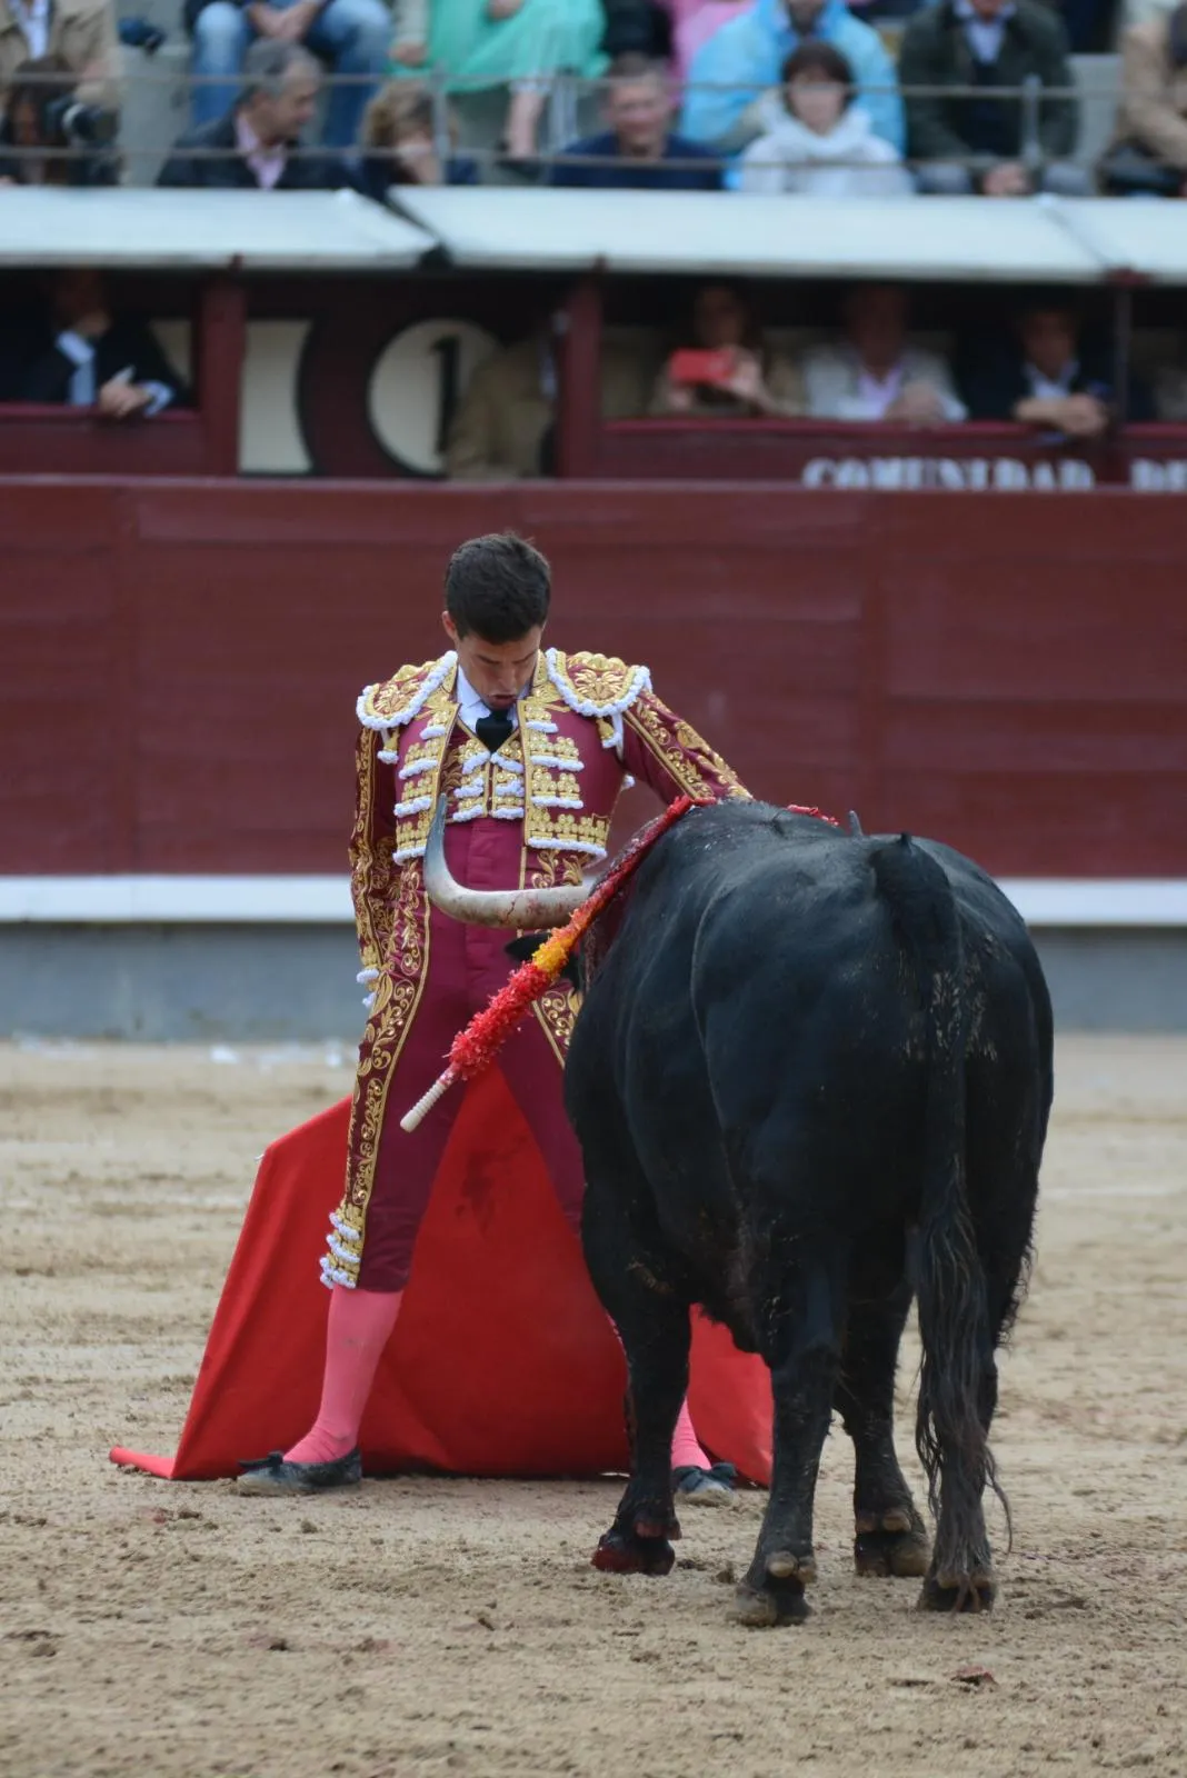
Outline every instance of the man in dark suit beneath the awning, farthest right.
POLYGON ((1031 297, 1009 338, 990 345, 965 377, 974 420, 1018 420, 1070 439, 1098 439, 1118 418, 1153 420, 1148 389, 1130 379, 1119 414, 1109 348, 1082 338, 1064 295, 1031 297))

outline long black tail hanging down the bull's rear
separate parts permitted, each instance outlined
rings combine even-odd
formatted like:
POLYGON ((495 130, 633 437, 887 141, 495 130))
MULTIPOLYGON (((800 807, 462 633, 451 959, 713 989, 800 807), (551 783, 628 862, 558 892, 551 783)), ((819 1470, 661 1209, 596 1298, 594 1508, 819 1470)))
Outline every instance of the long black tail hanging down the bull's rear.
POLYGON ((922 1367, 915 1449, 936 1517, 935 1572, 963 1591, 988 1572, 986 1483, 1002 1501, 988 1446, 993 1335, 965 1184, 965 967, 952 887, 910 836, 871 853, 878 889, 913 964, 928 1033, 919 1209, 922 1367))

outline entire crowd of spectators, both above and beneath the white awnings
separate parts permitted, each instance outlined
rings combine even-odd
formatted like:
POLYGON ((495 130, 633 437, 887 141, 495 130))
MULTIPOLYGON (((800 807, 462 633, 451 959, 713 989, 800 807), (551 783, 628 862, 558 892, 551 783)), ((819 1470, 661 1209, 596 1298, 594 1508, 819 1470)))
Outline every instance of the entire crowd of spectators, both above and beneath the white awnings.
MULTIPOLYGON (((352 187, 377 203, 393 187, 490 178, 837 199, 1182 197, 1187 0, 1127 4, 1116 133, 1087 167, 1070 44, 1107 28, 1103 0, 183 0, 192 119, 156 183, 352 187), (578 108, 565 112, 574 82, 597 82, 599 130, 579 133, 578 108), (462 146, 457 108, 474 92, 499 107, 489 155, 462 146), (544 119, 556 148, 558 116, 572 130, 544 151, 544 119)), ((146 32, 117 21, 114 0, 0 0, 0 185, 121 178, 121 39, 146 32)), ((94 274, 62 274, 43 297, 37 324, 9 341, 5 398, 110 420, 187 404, 151 332, 112 316, 94 274)), ((837 318, 835 340, 789 356, 743 292, 707 284, 645 389, 608 343, 604 412, 1016 420, 1068 439, 1116 418, 1111 357, 1080 340, 1063 300, 1031 302, 992 350, 961 348, 952 364, 912 341, 904 290, 853 288, 837 318)), ((540 315, 471 379, 450 473, 546 471, 554 393, 540 315)), ((1153 411, 1130 382, 1128 416, 1153 411)))

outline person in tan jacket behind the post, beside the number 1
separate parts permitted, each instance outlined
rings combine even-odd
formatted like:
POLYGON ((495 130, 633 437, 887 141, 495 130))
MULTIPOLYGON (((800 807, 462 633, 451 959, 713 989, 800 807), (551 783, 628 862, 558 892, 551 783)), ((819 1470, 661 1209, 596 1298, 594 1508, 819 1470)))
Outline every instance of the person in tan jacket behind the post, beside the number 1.
MULTIPOLYGON (((458 482, 514 482, 553 473, 556 354, 547 320, 528 340, 499 347, 469 379, 450 439, 446 475, 458 482)), ((602 341, 602 414, 643 411, 647 375, 638 356, 602 341)))

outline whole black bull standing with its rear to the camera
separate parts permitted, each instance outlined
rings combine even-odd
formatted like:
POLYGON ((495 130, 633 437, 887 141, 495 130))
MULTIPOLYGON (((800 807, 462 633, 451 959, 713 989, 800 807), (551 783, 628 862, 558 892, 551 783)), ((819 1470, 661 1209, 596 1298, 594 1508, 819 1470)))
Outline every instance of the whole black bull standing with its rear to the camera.
POLYGON ((775 1469, 736 1614, 807 1614, 835 1408, 858 1574, 993 1597, 995 1350, 1016 1312, 1052 1097, 1047 985, 968 859, 764 804, 693 809, 629 889, 565 1072, 585 1253, 627 1355, 633 1472, 595 1565, 666 1574, 689 1307, 762 1355, 775 1469), (912 1294, 935 1550, 894 1454, 912 1294))

